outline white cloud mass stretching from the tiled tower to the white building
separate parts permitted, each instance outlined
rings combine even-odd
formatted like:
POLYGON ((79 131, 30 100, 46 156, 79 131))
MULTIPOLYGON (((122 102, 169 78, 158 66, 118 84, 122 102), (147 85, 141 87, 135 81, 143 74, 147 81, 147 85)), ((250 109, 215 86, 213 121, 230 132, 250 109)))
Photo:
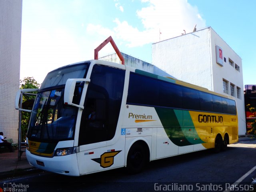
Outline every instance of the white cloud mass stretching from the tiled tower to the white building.
MULTIPOLYGON (((192 32, 195 24, 198 29, 205 27, 197 8, 187 0, 141 0, 142 7, 137 12, 124 12, 126 18, 136 14, 138 20, 128 22, 116 18, 112 21, 115 25, 113 28, 107 26, 107 20, 106 26, 91 21, 88 17, 90 13, 86 15, 87 12, 83 11, 84 7, 89 6, 88 2, 76 0, 74 6, 65 4, 60 7, 62 1, 56 1, 50 9, 48 4, 52 4, 52 1, 48 0, 48 4, 44 2, 24 2, 26 11, 22 15, 20 78, 34 76, 40 83, 55 68, 93 59, 94 48, 110 35, 118 46, 132 48, 159 41, 159 29, 162 33, 160 38, 164 40, 181 35, 183 30, 192 32), (67 12, 68 8, 72 10, 67 12), (136 27, 133 23, 142 27, 136 27)), ((123 12, 123 6, 118 0, 115 2, 116 8, 123 12)), ((112 52, 114 50, 108 44, 99 52, 99 56, 112 52)))

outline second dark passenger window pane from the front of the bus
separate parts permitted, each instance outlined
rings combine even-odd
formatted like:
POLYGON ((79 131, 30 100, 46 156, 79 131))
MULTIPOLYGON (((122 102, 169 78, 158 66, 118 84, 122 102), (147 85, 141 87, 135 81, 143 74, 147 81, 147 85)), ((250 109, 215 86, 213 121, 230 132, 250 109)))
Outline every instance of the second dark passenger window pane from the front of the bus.
POLYGON ((181 87, 172 83, 159 81, 159 105, 182 108, 181 87))

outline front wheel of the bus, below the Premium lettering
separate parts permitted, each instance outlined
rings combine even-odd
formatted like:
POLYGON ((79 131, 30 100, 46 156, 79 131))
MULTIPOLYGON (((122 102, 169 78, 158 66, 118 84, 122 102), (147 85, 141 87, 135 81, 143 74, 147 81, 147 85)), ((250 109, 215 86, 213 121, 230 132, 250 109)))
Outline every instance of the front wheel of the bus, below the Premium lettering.
POLYGON ((136 174, 141 172, 146 165, 146 150, 140 144, 134 144, 127 156, 128 172, 136 174))

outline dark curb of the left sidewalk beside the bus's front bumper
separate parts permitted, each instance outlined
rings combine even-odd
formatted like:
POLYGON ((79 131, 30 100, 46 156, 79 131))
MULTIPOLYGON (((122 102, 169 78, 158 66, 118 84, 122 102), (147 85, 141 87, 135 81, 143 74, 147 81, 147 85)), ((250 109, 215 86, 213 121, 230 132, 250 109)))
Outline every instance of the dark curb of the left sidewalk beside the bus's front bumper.
POLYGON ((14 178, 16 176, 36 174, 36 173, 41 173, 41 172, 44 172, 44 170, 40 170, 37 168, 14 169, 11 171, 0 173, 0 180, 5 180, 7 178, 14 178))

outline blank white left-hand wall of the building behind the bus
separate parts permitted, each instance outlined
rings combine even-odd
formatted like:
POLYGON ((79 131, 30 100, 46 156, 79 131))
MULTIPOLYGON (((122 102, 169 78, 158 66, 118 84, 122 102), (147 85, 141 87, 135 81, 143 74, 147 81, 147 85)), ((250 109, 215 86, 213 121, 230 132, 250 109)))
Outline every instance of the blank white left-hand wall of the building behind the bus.
POLYGON ((212 89, 208 30, 152 44, 152 64, 179 80, 212 89))

